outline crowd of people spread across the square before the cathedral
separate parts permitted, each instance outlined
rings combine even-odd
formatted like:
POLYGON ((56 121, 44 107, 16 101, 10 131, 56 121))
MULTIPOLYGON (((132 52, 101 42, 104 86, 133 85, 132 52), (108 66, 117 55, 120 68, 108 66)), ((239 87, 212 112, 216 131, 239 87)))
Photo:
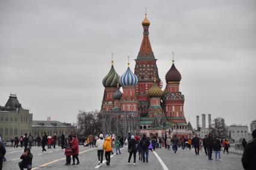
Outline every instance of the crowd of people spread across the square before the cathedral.
MULTIPOLYGON (((245 169, 255 169, 254 160, 256 157, 256 130, 252 132, 252 138, 254 140, 249 144, 247 144, 245 140, 242 142, 242 145, 245 148, 242 157, 242 164, 245 169)), ((20 169, 32 169, 33 154, 31 153, 31 147, 33 144, 31 141, 33 140, 31 139, 33 139, 31 134, 25 134, 19 139, 20 147, 24 147, 24 152, 20 157, 22 161, 19 162, 20 169)), ((166 148, 168 151, 170 151, 172 148, 174 154, 176 154, 178 150, 184 151, 194 148, 197 156, 199 155, 199 150, 204 148, 204 153, 206 156, 208 156, 208 160, 213 160, 212 153, 215 153, 215 160, 221 160, 221 151, 229 154, 230 147, 228 139, 219 139, 217 137, 213 138, 213 135, 211 134, 208 136, 205 135, 204 139, 199 138, 198 135, 195 135, 193 138, 185 138, 184 136, 178 138, 176 135, 173 135, 172 138, 171 136, 167 135, 162 137, 152 136, 149 138, 145 134, 140 136, 137 134, 131 135, 130 133, 126 136, 126 138, 123 138, 123 136, 116 136, 114 134, 105 135, 104 138, 104 135, 100 134, 99 136, 89 135, 85 141, 79 142, 76 135, 68 135, 67 138, 65 138, 63 134, 60 136, 60 140, 58 140, 58 136, 50 136, 44 133, 42 138, 37 136, 36 140, 37 147, 42 146, 42 152, 46 151, 46 145, 50 149, 52 147, 55 148, 56 144, 58 144, 58 146, 64 150, 64 154, 66 155, 65 165, 71 165, 71 157, 72 165, 80 164, 78 155, 79 144, 81 144, 81 142, 84 147, 97 147, 98 165, 102 165, 105 152, 107 166, 110 165, 111 154, 114 154, 113 149, 116 151, 115 154, 122 154, 120 152, 120 148, 122 148, 124 145, 128 145, 127 150, 129 157, 127 163, 130 164, 131 157, 133 156, 134 165, 136 165, 137 153, 140 161, 143 163, 148 163, 149 151, 154 151, 158 148, 166 148)), ((17 148, 19 142, 14 140, 14 148, 17 148)), ((6 161, 4 157, 5 153, 5 145, 2 136, 0 135, 0 170, 2 169, 2 162, 4 160, 6 161)))

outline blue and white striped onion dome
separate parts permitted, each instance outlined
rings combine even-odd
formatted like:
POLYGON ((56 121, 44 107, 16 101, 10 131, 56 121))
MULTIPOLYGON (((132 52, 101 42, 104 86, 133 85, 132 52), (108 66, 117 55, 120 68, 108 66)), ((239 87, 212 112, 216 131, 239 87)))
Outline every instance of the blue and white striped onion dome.
POLYGON ((138 83, 138 77, 131 71, 128 66, 125 73, 120 78, 120 83, 122 86, 136 86, 138 83))

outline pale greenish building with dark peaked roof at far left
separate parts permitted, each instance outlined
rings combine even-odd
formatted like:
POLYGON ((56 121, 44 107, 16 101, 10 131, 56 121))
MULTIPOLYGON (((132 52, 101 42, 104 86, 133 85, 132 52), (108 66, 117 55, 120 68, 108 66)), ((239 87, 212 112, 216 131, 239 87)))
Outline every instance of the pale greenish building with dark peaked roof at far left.
POLYGON ((10 94, 5 106, 0 106, 0 134, 5 141, 31 133, 33 114, 23 109, 16 94, 10 94))

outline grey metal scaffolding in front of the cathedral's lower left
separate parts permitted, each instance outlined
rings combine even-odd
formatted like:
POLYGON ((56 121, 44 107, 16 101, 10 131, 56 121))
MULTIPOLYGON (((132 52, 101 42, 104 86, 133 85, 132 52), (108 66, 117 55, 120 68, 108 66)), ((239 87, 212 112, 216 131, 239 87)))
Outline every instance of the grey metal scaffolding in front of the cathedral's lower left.
POLYGON ((139 113, 133 111, 104 111, 102 112, 102 132, 117 136, 128 133, 139 134, 139 113))

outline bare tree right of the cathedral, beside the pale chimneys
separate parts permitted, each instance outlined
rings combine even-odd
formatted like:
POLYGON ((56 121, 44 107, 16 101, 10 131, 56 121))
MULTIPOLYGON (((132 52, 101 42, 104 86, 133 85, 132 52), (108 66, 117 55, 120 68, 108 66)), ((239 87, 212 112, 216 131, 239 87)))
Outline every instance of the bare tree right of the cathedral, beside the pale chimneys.
POLYGON ((228 135, 228 129, 226 128, 223 118, 219 117, 213 120, 210 133, 218 138, 224 138, 228 135))

